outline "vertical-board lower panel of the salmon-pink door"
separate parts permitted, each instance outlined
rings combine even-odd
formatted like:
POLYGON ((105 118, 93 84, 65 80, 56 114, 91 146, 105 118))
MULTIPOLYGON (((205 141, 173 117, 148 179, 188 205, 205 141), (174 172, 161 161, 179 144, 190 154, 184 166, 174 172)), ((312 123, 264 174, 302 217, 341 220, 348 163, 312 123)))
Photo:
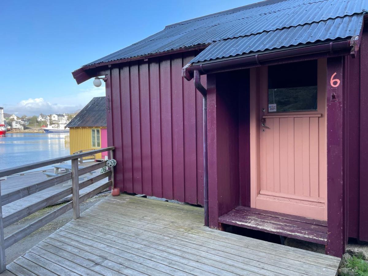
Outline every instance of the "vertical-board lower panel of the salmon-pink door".
MULTIPOLYGON (((297 115, 301 116, 301 115, 297 115)), ((298 198, 320 198, 319 192, 319 119, 318 117, 267 118, 266 163, 261 173, 262 190, 297 195, 298 198), (296 173, 298 172, 298 173, 296 173), (298 183, 298 185, 296 185, 298 183), (294 190, 295 188, 295 190, 294 190)), ((322 124, 324 120, 322 120, 322 124)), ((322 166, 325 170, 325 166, 322 166)), ((275 194, 276 195, 276 194, 275 194)))

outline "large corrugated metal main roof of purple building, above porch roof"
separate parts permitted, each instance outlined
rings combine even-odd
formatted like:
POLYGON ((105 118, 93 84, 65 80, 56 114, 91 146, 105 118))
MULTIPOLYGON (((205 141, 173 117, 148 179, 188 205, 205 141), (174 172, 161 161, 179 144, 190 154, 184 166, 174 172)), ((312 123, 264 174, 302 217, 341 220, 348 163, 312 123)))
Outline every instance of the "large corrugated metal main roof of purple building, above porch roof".
MULTIPOLYGON (((102 59, 86 64, 86 66, 301 25, 310 26, 320 21, 327 22, 331 19, 362 14, 367 10, 368 0, 264 1, 166 26, 162 31, 102 59)), ((335 28, 336 25, 332 24, 332 27, 335 28)), ((336 39, 341 34, 335 29, 330 29, 329 32, 330 39, 336 39)), ((279 35, 278 32, 272 33, 279 35)), ((322 40, 327 33, 328 31, 325 30, 321 38, 315 34, 314 40, 322 40)), ((307 40, 301 33, 299 36, 295 38, 296 41, 298 39, 307 40)), ((266 49, 271 47, 272 45, 266 46, 266 49)))

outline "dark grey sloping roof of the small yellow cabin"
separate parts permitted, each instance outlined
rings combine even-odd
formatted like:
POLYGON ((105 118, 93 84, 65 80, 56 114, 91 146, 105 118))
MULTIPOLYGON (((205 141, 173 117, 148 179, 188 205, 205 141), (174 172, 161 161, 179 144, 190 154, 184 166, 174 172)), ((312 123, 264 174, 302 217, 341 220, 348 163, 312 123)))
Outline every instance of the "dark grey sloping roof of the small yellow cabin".
POLYGON ((71 119, 66 127, 106 127, 105 97, 95 97, 71 119))

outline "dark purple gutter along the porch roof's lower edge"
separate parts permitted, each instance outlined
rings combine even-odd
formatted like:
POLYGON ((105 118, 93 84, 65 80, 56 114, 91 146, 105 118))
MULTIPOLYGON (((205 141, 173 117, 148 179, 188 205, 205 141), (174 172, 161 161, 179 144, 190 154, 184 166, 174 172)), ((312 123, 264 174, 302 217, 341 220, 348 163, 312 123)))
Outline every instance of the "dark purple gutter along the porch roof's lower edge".
POLYGON ((353 57, 359 49, 360 39, 358 36, 354 36, 349 40, 343 40, 339 42, 330 42, 321 45, 302 47, 291 50, 284 50, 274 53, 256 54, 254 56, 241 57, 238 59, 230 59, 223 61, 216 61, 207 64, 194 65, 187 64, 182 69, 182 75, 185 79, 190 81, 193 78, 194 71, 198 71, 201 75, 216 73, 221 71, 237 70, 241 68, 250 68, 261 65, 269 65, 275 60, 302 57, 310 54, 325 53, 326 56, 335 54, 334 52, 340 51, 339 55, 351 54, 353 57))

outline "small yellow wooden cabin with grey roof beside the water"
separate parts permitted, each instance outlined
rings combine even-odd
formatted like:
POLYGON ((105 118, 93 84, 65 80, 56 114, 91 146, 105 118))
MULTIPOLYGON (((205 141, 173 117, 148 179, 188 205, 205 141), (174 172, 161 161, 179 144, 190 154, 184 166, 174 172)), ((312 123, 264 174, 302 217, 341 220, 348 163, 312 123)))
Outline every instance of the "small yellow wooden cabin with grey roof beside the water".
MULTIPOLYGON (((106 103, 105 97, 95 97, 67 124, 70 129, 70 154, 106 148, 106 103)), ((85 158, 104 160, 107 152, 85 158)))

